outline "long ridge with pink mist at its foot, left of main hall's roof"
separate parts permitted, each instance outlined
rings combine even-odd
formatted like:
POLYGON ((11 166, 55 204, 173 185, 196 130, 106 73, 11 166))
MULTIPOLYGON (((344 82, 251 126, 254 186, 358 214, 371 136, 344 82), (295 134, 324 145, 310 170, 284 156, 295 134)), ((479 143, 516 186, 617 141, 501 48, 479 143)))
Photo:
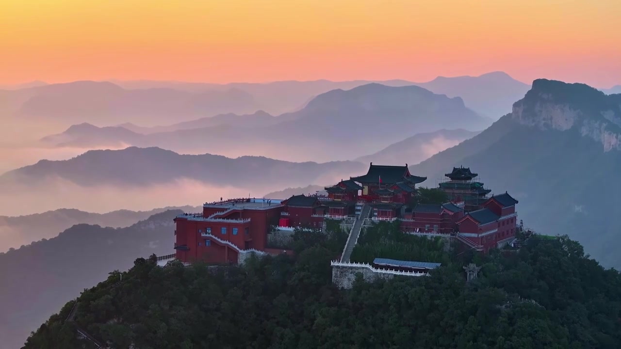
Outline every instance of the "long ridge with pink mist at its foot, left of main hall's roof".
POLYGON ((161 148, 91 150, 2 174, 0 212, 24 215, 60 207, 145 211, 335 183, 365 170, 356 161, 294 163, 261 156, 180 155, 161 148))

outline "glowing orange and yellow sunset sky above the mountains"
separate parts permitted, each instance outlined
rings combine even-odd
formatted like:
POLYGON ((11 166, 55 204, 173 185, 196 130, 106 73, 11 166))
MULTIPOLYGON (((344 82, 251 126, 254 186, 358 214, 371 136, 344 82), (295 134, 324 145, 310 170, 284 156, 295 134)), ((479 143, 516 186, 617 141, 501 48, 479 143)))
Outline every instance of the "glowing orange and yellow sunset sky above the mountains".
POLYGON ((480 75, 621 84, 619 0, 0 0, 0 84, 480 75))

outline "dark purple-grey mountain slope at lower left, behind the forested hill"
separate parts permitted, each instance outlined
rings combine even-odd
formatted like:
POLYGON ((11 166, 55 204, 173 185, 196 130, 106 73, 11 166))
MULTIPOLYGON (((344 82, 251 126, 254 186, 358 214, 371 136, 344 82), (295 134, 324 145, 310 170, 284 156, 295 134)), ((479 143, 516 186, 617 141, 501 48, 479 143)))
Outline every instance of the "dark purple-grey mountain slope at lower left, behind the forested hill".
POLYGON ((139 257, 170 254, 173 218, 181 213, 161 212, 122 229, 78 224, 58 237, 0 253, 2 348, 20 348, 30 331, 111 271, 125 271, 139 257))

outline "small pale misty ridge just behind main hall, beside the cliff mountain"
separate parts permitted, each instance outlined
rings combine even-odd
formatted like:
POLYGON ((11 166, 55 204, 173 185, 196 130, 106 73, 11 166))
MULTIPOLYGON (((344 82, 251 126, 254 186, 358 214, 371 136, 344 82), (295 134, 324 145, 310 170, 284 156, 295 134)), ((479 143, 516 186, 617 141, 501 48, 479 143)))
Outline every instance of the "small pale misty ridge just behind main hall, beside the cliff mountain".
POLYGON ((416 134, 400 142, 389 145, 372 155, 361 156, 354 161, 361 163, 417 164, 435 153, 453 147, 479 132, 457 130, 438 130, 426 134, 416 134))

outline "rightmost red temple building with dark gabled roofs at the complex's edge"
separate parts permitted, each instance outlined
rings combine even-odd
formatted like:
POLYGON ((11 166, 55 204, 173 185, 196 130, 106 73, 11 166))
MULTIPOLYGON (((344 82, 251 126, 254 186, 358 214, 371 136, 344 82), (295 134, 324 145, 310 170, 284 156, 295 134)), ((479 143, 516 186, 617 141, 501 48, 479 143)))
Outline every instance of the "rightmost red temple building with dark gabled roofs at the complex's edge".
POLYGON ((502 247, 515 238, 517 203, 506 192, 490 197, 483 203, 483 209, 468 212, 457 222, 458 235, 484 252, 490 248, 502 247))

